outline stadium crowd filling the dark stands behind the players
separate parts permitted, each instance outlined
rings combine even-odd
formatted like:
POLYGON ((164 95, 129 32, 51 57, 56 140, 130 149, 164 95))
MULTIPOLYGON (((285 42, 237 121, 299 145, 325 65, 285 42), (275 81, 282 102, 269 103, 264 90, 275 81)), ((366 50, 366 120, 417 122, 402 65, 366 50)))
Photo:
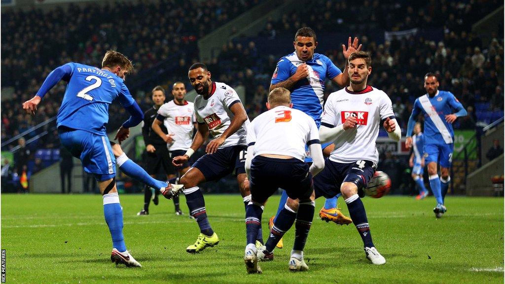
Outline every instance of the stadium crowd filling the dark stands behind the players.
MULTIPOLYGON (((2 140, 56 115, 65 89, 62 83, 44 97, 36 117, 22 113, 19 105, 33 96, 57 66, 70 61, 98 66, 105 51, 118 49, 134 62, 135 74, 130 76, 130 82, 172 56, 177 57, 179 68, 159 83, 185 80, 188 66, 198 61, 197 40, 260 2, 115 2, 100 6, 70 5, 68 10, 57 8, 44 13, 39 10, 4 12, 2 87, 13 87, 14 91, 11 99, 2 102, 2 140), (22 18, 36 22, 20 21, 22 18)), ((425 93, 423 76, 428 71, 439 73, 441 89, 455 93, 467 108, 469 116, 460 119, 456 127, 473 128, 478 121, 489 123, 503 116, 503 34, 496 34, 489 44, 483 44, 471 32, 472 24, 499 5, 497 1, 399 4, 377 0, 351 5, 347 1, 316 0, 308 10, 270 19, 257 37, 223 44, 219 55, 206 64, 214 80, 245 87, 244 105, 252 119, 266 110, 272 72, 278 60, 286 55, 265 52, 258 46, 259 39, 292 36, 302 26, 311 26, 316 33, 345 32, 359 36, 364 50, 372 54, 370 84, 388 93, 402 128, 407 126, 415 98, 425 93), (358 19, 352 15, 358 15, 358 19), (377 31, 413 28, 438 29, 440 40, 428 39, 421 32, 406 37, 392 36, 384 42, 369 39, 369 34, 377 31)), ((341 50, 319 52, 343 70, 341 50)), ((142 86, 142 89, 152 87, 142 86)), ((327 82, 325 94, 337 89, 327 82)), ((148 101, 137 97, 143 109, 150 106, 148 101)), ((110 111, 114 115, 108 128, 112 130, 119 127, 127 114, 114 104, 110 111)), ((38 133, 44 130, 52 132, 53 128, 46 126, 38 133)), ((45 135, 38 144, 58 147, 57 141, 57 135, 45 135)), ((14 146, 16 143, 10 147, 14 146)), ((29 147, 37 146, 33 143, 29 147)))

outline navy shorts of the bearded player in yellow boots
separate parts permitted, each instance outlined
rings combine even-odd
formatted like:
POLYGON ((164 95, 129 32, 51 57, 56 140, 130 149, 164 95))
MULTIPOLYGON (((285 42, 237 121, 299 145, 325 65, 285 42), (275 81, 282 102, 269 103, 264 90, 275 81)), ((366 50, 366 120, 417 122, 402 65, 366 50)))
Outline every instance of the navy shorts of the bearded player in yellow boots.
POLYGON ((201 156, 194 164, 204 174, 206 181, 219 180, 230 173, 245 173, 247 146, 237 145, 218 149, 214 154, 201 156))

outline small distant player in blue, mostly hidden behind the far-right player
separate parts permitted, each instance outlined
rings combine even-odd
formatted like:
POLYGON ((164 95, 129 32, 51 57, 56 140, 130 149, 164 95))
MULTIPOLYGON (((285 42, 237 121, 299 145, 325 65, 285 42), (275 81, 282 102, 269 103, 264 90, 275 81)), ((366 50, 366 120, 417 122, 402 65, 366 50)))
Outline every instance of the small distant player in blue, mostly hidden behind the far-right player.
POLYGON ((416 196, 417 200, 424 199, 428 196, 428 190, 424 186, 424 135, 421 132, 421 123, 416 123, 414 126, 414 136, 412 136, 412 155, 409 159, 409 165, 412 167, 412 178, 419 187, 419 195, 416 196))

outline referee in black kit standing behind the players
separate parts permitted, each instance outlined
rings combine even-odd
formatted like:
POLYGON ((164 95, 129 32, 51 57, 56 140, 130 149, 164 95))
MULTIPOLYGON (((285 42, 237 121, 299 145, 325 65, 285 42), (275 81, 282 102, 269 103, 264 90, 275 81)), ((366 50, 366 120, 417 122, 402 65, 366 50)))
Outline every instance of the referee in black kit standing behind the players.
MULTIPOLYGON (((153 121, 156 119, 158 109, 165 103, 165 89, 162 86, 156 86, 152 93, 152 99, 154 106, 149 108, 144 113, 144 121, 142 125, 142 135, 144 137, 145 143, 145 155, 144 164, 145 169, 149 175, 155 177, 155 175, 160 171, 160 166, 163 166, 163 170, 167 174, 167 179, 176 177, 176 169, 172 166, 172 159, 170 158, 167 143, 151 129, 153 121)), ((163 132, 168 133, 167 128, 161 125, 163 132)), ((137 213, 140 215, 149 215, 149 203, 151 198, 153 203, 158 205, 158 190, 151 190, 147 185, 144 187, 144 208, 137 213), (154 192, 154 193, 153 193, 154 192)), ((175 214, 182 215, 181 208, 179 206, 179 197, 173 198, 175 205, 175 214)))

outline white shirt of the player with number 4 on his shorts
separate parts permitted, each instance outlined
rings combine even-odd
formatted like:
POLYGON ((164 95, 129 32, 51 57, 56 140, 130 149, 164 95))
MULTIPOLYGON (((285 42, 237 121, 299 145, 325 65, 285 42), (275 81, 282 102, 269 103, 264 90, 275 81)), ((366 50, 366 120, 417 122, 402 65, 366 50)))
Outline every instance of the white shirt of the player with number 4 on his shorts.
POLYGON ((338 163, 368 160, 377 164, 379 153, 375 141, 381 121, 394 118, 391 99, 382 90, 371 86, 361 92, 351 92, 347 88, 332 92, 324 106, 321 125, 335 127, 343 124, 350 115, 356 117, 357 127, 343 131, 334 141, 335 150, 329 159, 338 163))

